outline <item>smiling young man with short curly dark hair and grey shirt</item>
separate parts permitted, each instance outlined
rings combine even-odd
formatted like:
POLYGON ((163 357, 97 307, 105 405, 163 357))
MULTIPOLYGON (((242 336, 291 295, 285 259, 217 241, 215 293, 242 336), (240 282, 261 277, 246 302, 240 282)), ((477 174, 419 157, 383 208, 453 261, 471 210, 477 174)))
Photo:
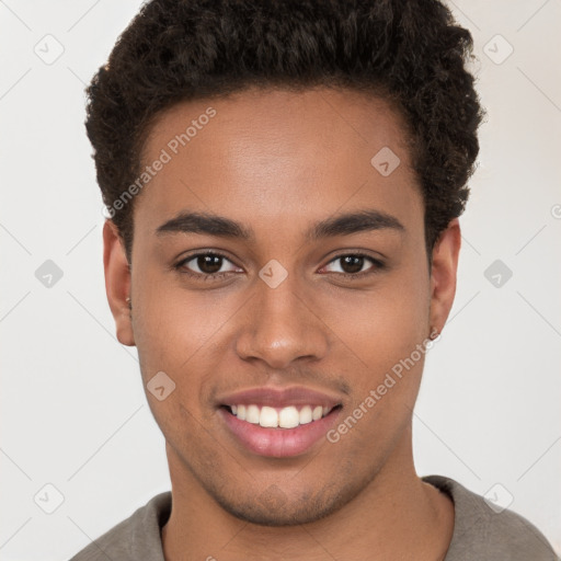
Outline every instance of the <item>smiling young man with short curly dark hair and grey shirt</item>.
POLYGON ((437 1, 142 7, 87 128, 172 490, 75 560, 556 559, 413 463, 479 150, 470 49, 437 1))

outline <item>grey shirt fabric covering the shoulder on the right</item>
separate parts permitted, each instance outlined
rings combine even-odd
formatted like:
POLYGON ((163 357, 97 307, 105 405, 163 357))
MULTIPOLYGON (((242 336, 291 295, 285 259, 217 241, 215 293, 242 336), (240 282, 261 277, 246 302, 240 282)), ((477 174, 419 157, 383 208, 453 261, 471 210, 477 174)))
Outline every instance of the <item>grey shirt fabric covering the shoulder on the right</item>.
POLYGON ((543 534, 519 514, 493 508, 481 495, 450 478, 427 476, 422 479, 454 502, 454 534, 446 561, 559 561, 543 534))

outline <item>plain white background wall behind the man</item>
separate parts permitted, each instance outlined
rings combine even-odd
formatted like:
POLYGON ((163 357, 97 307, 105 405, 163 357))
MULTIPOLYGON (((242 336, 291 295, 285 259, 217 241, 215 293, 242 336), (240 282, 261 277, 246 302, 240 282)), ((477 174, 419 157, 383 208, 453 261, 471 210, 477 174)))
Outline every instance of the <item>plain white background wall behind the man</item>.
MULTIPOLYGON (((84 85, 139 5, 0 1, 5 561, 68 559, 170 488, 136 350, 114 336, 83 127, 84 85), (62 273, 50 287, 47 260, 62 273)), ((510 503, 561 552, 561 3, 449 5, 474 38, 488 122, 456 304, 415 409, 416 467, 510 503)))

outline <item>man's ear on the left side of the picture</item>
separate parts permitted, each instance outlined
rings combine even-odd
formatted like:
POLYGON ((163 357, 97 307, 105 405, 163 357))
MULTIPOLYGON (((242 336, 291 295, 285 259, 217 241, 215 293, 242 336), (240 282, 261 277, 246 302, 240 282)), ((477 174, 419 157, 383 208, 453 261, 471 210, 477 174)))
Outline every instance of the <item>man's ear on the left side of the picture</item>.
POLYGON ((123 345, 134 346, 133 322, 127 301, 130 296, 130 267, 117 227, 108 219, 103 226, 103 268, 105 291, 115 319, 117 340, 123 345))

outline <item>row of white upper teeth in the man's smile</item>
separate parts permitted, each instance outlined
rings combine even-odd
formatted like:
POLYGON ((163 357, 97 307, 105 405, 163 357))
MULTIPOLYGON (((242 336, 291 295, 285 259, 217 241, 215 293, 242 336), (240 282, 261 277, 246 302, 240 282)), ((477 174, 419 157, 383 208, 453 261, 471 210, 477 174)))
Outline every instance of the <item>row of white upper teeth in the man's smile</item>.
POLYGON ((295 405, 277 410, 267 405, 230 405, 230 411, 240 421, 247 421, 263 427, 294 428, 298 425, 306 425, 312 421, 319 421, 325 416, 331 408, 317 405, 304 405, 300 411, 295 405))

